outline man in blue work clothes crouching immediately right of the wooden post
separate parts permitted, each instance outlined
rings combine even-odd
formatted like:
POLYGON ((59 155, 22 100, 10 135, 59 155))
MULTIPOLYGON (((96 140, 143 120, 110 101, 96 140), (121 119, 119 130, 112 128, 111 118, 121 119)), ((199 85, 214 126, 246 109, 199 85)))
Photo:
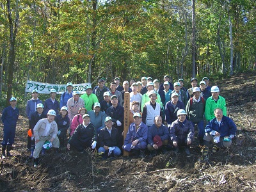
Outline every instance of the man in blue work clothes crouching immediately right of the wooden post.
POLYGON ((140 113, 134 113, 133 118, 134 122, 130 125, 124 140, 124 150, 127 152, 138 152, 140 150, 140 156, 145 157, 148 126, 142 122, 140 113))

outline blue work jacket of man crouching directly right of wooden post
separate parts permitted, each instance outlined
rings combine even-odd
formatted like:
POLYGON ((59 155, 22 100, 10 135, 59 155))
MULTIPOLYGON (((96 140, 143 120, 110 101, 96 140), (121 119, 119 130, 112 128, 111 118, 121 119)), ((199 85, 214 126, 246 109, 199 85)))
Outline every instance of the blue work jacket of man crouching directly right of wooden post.
POLYGON ((147 142, 148 138, 148 126, 141 122, 140 127, 136 131, 136 125, 135 123, 132 123, 129 126, 126 138, 124 140, 124 145, 128 143, 132 143, 134 140, 139 140, 140 142, 144 141, 147 142))

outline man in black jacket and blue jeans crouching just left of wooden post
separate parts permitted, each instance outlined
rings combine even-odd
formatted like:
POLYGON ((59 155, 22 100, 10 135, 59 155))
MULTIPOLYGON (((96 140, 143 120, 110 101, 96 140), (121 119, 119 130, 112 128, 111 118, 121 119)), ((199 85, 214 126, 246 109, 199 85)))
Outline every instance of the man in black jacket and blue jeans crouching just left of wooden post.
POLYGON ((99 132, 99 153, 103 153, 103 157, 120 156, 121 150, 116 147, 118 140, 118 130, 112 126, 112 118, 105 118, 106 127, 100 129, 99 132), (108 153, 107 153, 108 152, 108 153))

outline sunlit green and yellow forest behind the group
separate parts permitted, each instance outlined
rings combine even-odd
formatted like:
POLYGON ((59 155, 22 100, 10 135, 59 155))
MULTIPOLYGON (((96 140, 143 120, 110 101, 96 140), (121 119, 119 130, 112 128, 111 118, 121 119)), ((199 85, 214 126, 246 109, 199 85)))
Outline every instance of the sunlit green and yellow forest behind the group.
POLYGON ((256 65, 253 0, 0 0, 0 7, 1 106, 12 95, 24 106, 27 80, 95 85, 100 77, 168 74, 189 83, 256 65))

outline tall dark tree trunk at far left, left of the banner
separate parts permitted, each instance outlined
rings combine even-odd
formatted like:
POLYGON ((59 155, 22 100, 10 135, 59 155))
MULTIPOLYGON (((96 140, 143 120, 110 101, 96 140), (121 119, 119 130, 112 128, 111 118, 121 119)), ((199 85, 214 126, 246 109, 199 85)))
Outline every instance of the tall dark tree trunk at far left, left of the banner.
POLYGON ((15 9, 11 8, 11 1, 7 0, 7 15, 9 22, 9 31, 10 31, 10 55, 9 55, 9 65, 8 65, 8 80, 7 80, 7 98, 6 106, 10 105, 10 97, 12 97, 12 81, 14 73, 14 64, 15 64, 15 39, 18 31, 18 22, 19 22, 19 10, 18 10, 19 0, 16 1, 15 9), (12 19, 12 10, 15 13, 15 19, 12 19), (13 23, 14 22, 14 23, 13 23))

